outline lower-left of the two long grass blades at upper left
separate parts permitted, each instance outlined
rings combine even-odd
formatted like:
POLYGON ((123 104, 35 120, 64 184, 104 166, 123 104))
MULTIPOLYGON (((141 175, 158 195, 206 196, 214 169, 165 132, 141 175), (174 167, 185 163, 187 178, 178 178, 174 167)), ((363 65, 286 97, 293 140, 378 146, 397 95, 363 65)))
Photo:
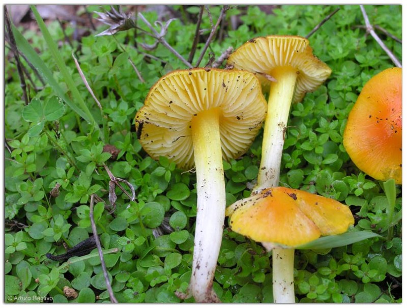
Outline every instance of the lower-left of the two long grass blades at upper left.
POLYGON ((77 113, 81 118, 87 122, 91 122, 88 115, 86 115, 78 106, 76 106, 66 95, 64 90, 60 87, 58 82, 54 79, 52 72, 45 65, 44 61, 39 57, 37 52, 31 47, 30 43, 22 36, 22 34, 17 30, 17 28, 12 25, 13 34, 16 40, 18 49, 27 57, 27 59, 34 65, 41 76, 49 83, 55 94, 61 97, 65 103, 77 113))

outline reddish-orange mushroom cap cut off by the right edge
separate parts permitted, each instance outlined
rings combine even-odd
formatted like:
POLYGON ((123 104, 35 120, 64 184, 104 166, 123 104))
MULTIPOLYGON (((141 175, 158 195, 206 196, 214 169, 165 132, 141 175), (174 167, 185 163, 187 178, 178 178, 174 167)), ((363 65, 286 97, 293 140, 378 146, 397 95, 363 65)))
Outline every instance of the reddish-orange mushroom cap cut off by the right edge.
POLYGON ((343 146, 356 166, 376 180, 401 184, 401 68, 373 76, 347 119, 343 146))

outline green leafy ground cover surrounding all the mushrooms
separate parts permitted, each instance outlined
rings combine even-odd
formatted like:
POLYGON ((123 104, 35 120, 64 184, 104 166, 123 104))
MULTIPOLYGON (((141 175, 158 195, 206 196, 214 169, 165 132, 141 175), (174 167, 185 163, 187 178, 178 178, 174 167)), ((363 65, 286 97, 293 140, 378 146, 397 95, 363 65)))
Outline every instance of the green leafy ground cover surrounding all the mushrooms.
MULTIPOLYGON (((10 31, 5 42, 6 302, 110 301, 97 249, 68 262, 46 256, 64 254, 92 235, 91 200, 119 302, 180 302, 175 291, 186 291, 195 174, 143 152, 133 119, 159 77, 187 67, 162 42, 156 44, 137 13, 162 31, 181 58, 195 66, 202 55, 199 66, 213 66, 228 47, 236 49, 253 37, 307 36, 336 9, 309 37, 332 75, 292 107, 280 184, 348 205, 355 230, 383 237, 296 250, 296 297, 299 302, 401 302, 401 186, 389 222, 383 183, 358 170, 342 145, 347 115, 363 85, 394 66, 366 32, 359 6, 230 6, 219 24, 222 6, 124 6, 112 25, 121 31, 112 36, 95 36, 108 27, 95 11, 110 6, 38 6, 42 29, 27 6, 25 11, 7 8, 16 28, 15 43, 10 31)), ((365 10, 377 35, 401 60, 401 6, 365 10)), ((228 205, 250 194, 260 146, 261 132, 245 155, 224 162, 228 205)), ((227 219, 225 226, 214 281, 221 301, 273 302, 270 254, 231 232, 227 219)))

